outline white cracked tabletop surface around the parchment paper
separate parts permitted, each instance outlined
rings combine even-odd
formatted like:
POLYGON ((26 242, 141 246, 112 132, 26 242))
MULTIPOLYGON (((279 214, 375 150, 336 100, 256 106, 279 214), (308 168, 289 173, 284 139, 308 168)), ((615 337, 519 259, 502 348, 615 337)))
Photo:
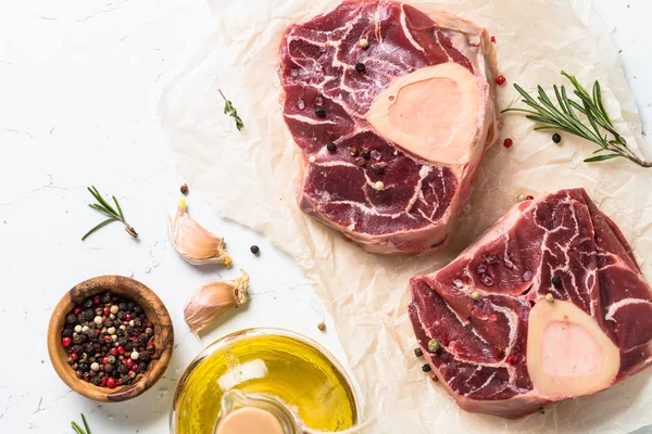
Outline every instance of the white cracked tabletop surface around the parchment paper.
MULTIPOLYGON (((652 3, 597 7, 650 129, 652 3)), ((317 331, 322 305, 292 261, 256 233, 216 218, 198 192, 188 196, 192 214, 227 238, 236 267, 189 266, 167 242, 183 181, 156 104, 212 26, 203 0, 0 2, 0 433, 71 433, 80 412, 96 433, 166 432, 185 366, 203 345, 247 327, 293 329, 342 357, 335 333, 317 331), (91 183, 120 199, 139 241, 117 224, 79 241, 101 218, 86 206, 91 183), (249 253, 254 243, 260 257, 249 253), (206 280, 237 277, 238 267, 252 276, 250 305, 199 342, 183 320, 186 297, 206 280), (127 404, 98 405, 72 393, 47 355, 52 306, 77 282, 104 273, 133 273, 158 292, 175 323, 165 376, 127 404)))

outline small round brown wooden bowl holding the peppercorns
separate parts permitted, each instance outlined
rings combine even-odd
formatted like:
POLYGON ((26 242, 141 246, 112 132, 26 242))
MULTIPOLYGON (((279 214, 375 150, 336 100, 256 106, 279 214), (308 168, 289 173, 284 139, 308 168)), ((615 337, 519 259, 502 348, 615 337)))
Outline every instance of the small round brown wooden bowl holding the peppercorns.
POLYGON ((100 276, 73 288, 54 308, 48 327, 48 353, 61 380, 78 394, 102 403, 131 399, 154 385, 170 365, 173 347, 172 319, 161 298, 142 283, 123 276, 100 276), (61 331, 65 316, 88 296, 108 291, 138 304, 142 307, 147 318, 154 324, 155 354, 152 355, 149 369, 147 372, 138 374, 134 383, 115 388, 96 386, 78 379, 75 370, 67 363, 68 354, 61 344, 61 331))

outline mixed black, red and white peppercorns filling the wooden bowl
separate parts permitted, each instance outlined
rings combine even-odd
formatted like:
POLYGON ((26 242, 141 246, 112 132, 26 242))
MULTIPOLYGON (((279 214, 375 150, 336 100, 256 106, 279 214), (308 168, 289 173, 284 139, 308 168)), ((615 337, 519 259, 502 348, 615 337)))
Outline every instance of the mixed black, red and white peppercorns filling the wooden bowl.
POLYGON ((61 336, 77 378, 102 387, 134 383, 155 353, 154 326, 142 308, 110 292, 75 306, 61 336))

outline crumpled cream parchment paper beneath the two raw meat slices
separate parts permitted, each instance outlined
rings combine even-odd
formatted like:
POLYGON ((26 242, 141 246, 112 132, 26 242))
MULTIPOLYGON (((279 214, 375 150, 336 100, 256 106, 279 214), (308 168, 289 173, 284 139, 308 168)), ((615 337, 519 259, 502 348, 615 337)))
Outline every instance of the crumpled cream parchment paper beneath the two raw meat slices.
MULTIPOLYGON (((422 372, 406 312, 410 277, 448 264, 518 194, 562 188, 589 191, 623 229, 651 279, 652 169, 620 159, 585 164, 592 144, 566 135, 554 144, 550 133, 534 132, 529 120, 506 115, 450 248, 422 257, 363 252, 298 209, 299 165, 278 105, 277 54, 285 27, 335 4, 212 0, 216 31, 165 91, 160 113, 188 182, 205 193, 216 212, 261 231, 292 255, 315 282, 365 397, 365 418, 377 419, 368 432, 625 433, 652 423, 650 370, 516 421, 462 411, 422 372), (242 117, 242 132, 222 113, 218 88, 242 117), (506 136, 515 143, 510 150, 500 145, 506 136)), ((507 85, 549 88, 563 82, 561 69, 587 86, 599 79, 618 129, 631 145, 644 143, 617 53, 590 0, 457 0, 419 8, 441 9, 486 26, 498 40, 499 68, 507 85)), ((518 98, 504 86, 499 100, 506 107, 518 98)))

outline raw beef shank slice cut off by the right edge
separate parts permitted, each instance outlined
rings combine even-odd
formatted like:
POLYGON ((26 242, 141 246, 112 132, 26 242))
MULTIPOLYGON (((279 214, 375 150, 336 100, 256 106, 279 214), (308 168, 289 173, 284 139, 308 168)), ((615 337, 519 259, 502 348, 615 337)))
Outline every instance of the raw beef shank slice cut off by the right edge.
POLYGON ((518 203, 410 291, 427 361, 468 411, 517 418, 651 361, 650 286, 582 189, 518 203))

